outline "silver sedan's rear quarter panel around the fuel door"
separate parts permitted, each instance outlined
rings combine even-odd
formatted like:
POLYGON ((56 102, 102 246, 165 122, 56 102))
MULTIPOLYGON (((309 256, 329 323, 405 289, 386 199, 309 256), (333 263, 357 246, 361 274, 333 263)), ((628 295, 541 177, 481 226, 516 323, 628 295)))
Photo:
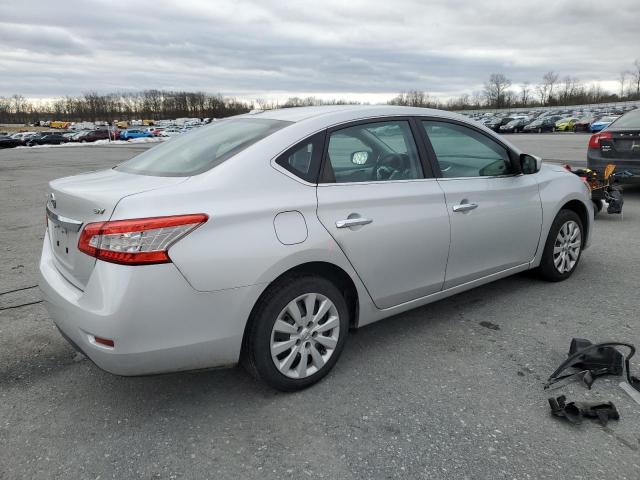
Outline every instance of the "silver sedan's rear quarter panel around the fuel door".
POLYGON ((249 148, 182 186, 127 197, 112 219, 209 215, 205 224, 169 249, 176 267, 198 291, 256 284, 266 288, 302 263, 328 262, 347 272, 366 298, 355 271, 316 216, 316 187, 274 169, 272 153, 264 146, 249 148), (274 219, 291 210, 304 216, 308 235, 300 243, 285 245, 278 239, 274 219))

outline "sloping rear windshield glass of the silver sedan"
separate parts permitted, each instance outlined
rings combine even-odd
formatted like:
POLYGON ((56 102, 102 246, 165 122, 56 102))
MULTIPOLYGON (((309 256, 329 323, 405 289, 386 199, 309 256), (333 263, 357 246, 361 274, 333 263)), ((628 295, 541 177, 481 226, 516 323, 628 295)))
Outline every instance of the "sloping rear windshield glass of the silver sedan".
POLYGON ((160 177, 188 177, 220 165, 290 122, 264 118, 230 118, 147 150, 116 170, 160 177))

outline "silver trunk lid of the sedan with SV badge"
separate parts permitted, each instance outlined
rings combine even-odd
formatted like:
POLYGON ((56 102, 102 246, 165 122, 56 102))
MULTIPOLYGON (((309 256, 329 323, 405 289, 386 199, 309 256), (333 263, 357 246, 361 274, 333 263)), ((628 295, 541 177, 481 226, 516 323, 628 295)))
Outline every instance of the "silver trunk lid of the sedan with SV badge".
POLYGON ((118 202, 126 196, 185 180, 185 177, 103 170, 50 182, 47 226, 56 268, 69 282, 84 290, 96 259, 78 250, 82 228, 88 223, 109 220, 118 202))

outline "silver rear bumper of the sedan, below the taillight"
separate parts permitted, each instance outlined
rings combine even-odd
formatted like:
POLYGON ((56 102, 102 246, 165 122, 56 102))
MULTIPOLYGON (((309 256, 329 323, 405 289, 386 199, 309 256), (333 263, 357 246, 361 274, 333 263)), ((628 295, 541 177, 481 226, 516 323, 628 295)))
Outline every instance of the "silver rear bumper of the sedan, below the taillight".
POLYGON ((40 289, 56 326, 100 368, 144 375, 238 362, 256 286, 198 292, 173 264, 96 262, 85 290, 56 269, 45 237, 40 289), (114 347, 95 337, 114 341, 114 347))

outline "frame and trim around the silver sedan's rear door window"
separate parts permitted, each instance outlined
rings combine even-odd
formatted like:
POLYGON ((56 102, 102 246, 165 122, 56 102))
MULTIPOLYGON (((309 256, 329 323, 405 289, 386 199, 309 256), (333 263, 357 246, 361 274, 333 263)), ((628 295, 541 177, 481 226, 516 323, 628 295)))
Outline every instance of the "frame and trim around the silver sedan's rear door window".
MULTIPOLYGON (((428 159, 428 153, 422 144, 422 140, 419 136, 419 131, 417 131, 417 126, 413 121, 412 116, 407 115, 389 115, 382 117, 370 117, 366 119, 358 119, 352 120, 349 122, 341 123, 339 125, 333 125, 326 129, 326 134, 324 138, 324 148, 322 151, 322 160, 320 163, 320 175, 318 176, 318 186, 327 186, 327 185, 369 185, 369 184, 384 184, 384 183, 405 183, 405 182, 423 182, 425 180, 434 180, 435 175, 433 173, 433 168, 431 162, 428 159), (409 126, 409 131, 411 132, 411 136, 413 137, 413 142, 416 147, 416 153, 418 155, 418 160, 420 162, 420 167, 422 169, 422 177, 421 178, 411 178, 411 179, 398 179, 398 180, 370 180, 366 182, 328 182, 325 179, 326 165, 327 159, 329 157, 329 141, 331 140, 331 134, 340 130, 344 130, 350 127, 356 127, 359 125, 367 125, 369 123, 383 123, 383 122, 407 122, 409 126)), ((421 127, 421 126, 420 126, 421 127)))

